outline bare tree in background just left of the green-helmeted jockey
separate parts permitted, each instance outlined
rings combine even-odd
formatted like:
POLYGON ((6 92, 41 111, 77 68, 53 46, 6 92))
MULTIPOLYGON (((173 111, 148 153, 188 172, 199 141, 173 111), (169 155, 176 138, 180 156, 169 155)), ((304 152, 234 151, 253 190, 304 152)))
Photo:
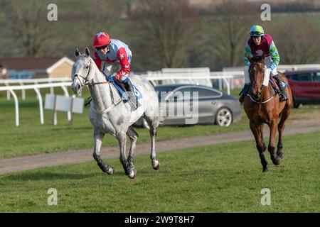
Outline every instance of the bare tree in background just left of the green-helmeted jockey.
POLYGON ((224 66, 240 65, 250 26, 258 18, 255 9, 245 1, 223 0, 212 13, 213 21, 206 28, 209 52, 224 66))

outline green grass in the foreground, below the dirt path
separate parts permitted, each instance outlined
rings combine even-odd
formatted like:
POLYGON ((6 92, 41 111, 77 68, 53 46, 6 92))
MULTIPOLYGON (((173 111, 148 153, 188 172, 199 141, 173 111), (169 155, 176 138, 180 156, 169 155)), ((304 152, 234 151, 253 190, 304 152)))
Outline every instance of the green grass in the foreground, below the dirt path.
MULTIPOLYGON (((105 175, 95 162, 0 176, 1 212, 319 212, 320 132, 284 137, 284 167, 262 173, 254 141, 135 158, 137 177, 124 175, 118 158, 105 175), (48 189, 58 205, 48 206, 48 189), (262 206, 261 190, 271 191, 262 206)), ((270 155, 266 153, 267 160, 270 155)))

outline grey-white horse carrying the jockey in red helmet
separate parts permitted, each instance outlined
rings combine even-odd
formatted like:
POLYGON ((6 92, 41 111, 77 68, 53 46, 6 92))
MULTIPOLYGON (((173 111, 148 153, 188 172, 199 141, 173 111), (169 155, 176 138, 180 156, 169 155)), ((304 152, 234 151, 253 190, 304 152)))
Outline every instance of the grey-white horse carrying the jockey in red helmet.
POLYGON ((93 157, 97 165, 103 172, 109 175, 114 173, 114 168, 105 164, 100 157, 102 138, 105 133, 110 133, 119 141, 120 162, 124 167, 125 174, 133 179, 137 175, 134 167, 134 148, 139 137, 132 128, 132 124, 143 116, 149 125, 151 136, 151 165, 154 170, 159 170, 160 163, 156 160, 156 129, 159 126, 159 100, 154 87, 144 78, 138 75, 130 77, 132 84, 137 87, 142 94, 139 99, 139 106, 134 111, 131 110, 129 102, 124 103, 114 86, 106 82, 105 76, 95 65, 90 57, 90 51, 85 48, 85 53, 81 54, 75 48, 77 60, 71 72, 72 89, 75 94, 80 94, 82 88, 87 85, 90 90, 92 102, 90 104, 89 119, 94 127, 95 148, 93 157), (126 141, 129 136, 131 145, 129 155, 126 155, 126 141))

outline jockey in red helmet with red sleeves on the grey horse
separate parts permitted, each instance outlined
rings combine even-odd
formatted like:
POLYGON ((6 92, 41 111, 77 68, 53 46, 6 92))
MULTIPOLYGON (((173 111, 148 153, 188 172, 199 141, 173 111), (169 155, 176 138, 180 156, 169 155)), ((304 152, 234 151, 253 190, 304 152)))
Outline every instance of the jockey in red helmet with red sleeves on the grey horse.
POLYGON ((107 75, 114 76, 114 79, 120 82, 119 84, 124 84, 122 87, 129 93, 132 110, 136 109, 137 100, 129 80, 132 52, 128 45, 120 40, 110 38, 107 32, 100 32, 93 38, 92 46, 95 48, 93 60, 98 69, 107 75))

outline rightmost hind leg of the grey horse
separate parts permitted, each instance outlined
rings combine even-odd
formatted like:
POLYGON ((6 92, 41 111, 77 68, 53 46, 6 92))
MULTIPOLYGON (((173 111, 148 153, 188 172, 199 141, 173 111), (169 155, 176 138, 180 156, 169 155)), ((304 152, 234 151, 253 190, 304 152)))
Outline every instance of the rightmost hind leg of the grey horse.
POLYGON ((146 122, 150 127, 149 133, 151 136, 151 165, 154 170, 159 170, 160 162, 156 160, 156 128, 158 127, 159 122, 156 117, 150 118, 149 116, 144 115, 144 119, 146 119, 146 122))

